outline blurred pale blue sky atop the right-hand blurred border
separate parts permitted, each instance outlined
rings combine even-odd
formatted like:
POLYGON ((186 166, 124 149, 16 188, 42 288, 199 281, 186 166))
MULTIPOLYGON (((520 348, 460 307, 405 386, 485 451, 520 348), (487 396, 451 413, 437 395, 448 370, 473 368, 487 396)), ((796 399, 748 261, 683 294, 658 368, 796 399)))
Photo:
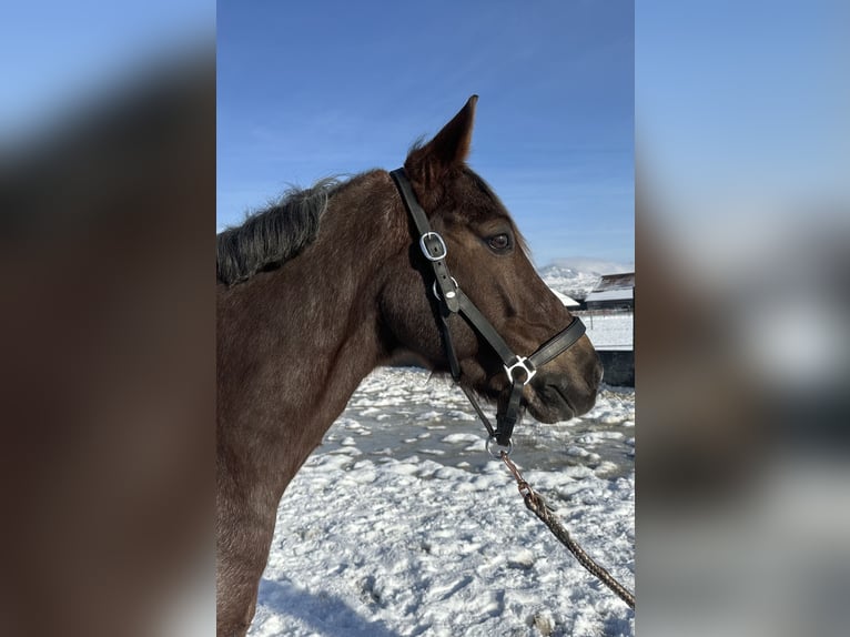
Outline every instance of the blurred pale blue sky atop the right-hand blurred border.
POLYGON ((638 156, 674 214, 846 198, 846 0, 641 0, 635 33, 638 156))

